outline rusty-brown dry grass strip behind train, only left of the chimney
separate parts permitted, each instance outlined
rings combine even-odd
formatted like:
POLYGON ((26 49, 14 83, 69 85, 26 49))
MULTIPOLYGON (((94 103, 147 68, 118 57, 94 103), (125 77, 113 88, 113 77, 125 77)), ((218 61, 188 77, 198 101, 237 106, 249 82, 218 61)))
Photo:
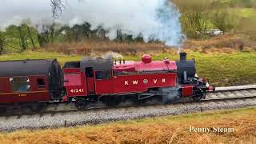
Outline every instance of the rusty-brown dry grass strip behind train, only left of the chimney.
POLYGON ((62 52, 64 54, 91 54, 113 51, 122 54, 138 54, 138 52, 166 50, 170 47, 161 43, 128 43, 109 41, 64 42, 53 43, 45 47, 46 50, 62 52))

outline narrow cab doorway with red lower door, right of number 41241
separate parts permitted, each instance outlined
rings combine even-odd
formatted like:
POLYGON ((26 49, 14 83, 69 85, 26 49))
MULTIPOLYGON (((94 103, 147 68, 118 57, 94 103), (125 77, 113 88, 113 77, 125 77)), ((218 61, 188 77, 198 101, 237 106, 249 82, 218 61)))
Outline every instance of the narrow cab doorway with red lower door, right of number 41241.
POLYGON ((86 88, 88 94, 95 94, 95 78, 92 67, 86 67, 86 88))

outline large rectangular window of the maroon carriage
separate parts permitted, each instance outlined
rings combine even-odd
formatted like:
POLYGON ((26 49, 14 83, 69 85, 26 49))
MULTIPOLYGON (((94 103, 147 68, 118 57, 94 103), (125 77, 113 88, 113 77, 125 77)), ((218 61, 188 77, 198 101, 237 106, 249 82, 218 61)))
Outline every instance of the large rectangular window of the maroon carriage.
POLYGON ((28 77, 10 78, 10 87, 13 92, 30 91, 30 79, 28 77))

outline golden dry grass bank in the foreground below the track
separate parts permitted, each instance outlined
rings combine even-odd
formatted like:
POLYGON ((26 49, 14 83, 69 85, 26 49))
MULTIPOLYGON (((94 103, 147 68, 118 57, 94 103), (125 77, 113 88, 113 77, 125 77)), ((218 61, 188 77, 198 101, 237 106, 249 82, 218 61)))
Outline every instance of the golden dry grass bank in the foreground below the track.
POLYGON ((57 130, 0 134, 0 143, 255 143, 256 108, 146 118, 57 130), (194 127, 231 127, 234 133, 190 133, 194 127))

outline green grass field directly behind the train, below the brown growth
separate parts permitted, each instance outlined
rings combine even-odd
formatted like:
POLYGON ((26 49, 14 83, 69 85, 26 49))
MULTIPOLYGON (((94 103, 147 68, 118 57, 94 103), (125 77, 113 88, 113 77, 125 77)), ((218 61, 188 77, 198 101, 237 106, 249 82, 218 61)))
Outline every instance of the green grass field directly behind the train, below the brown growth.
MULTIPOLYGON (((178 54, 154 54, 154 60, 167 57, 177 60, 178 54)), ((66 55, 49 52, 24 52, 0 56, 0 61, 16 59, 58 58, 62 65, 67 61, 79 61, 81 55, 66 55)), ((141 55, 124 55, 126 60, 139 61, 141 55)), ((233 54, 202 54, 190 52, 188 58, 196 59, 199 77, 209 78, 215 86, 235 86, 256 83, 256 52, 236 52, 233 54)))

